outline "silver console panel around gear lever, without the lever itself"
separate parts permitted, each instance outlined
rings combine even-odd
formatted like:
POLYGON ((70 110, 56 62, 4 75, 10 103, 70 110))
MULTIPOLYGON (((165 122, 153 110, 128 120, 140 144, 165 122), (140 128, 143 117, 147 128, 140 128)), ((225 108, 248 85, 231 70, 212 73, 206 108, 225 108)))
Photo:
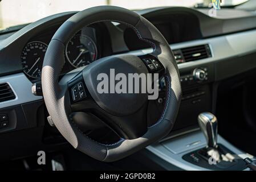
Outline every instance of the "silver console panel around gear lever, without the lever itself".
MULTIPOLYGON (((225 146, 225 148, 232 151, 237 158, 253 159, 253 156, 246 154, 245 152, 234 147, 220 135, 218 135, 218 145, 225 146)), ((194 131, 192 133, 180 135, 179 137, 170 138, 168 140, 148 146, 147 150, 153 155, 156 155, 158 158, 162 159, 165 163, 170 164, 168 167, 166 167, 166 165, 164 166, 166 170, 223 170, 220 167, 216 167, 214 164, 208 164, 212 168, 199 165, 204 159, 195 154, 198 150, 201 150, 204 147, 206 147, 204 134, 202 134, 201 131, 194 131)), ((159 165, 161 164, 162 161, 159 163, 159 165)), ((243 163, 242 169, 249 170, 249 168, 246 168, 245 163, 243 163)), ((238 168, 234 166, 234 168, 229 168, 228 170, 238 170, 238 168)))

